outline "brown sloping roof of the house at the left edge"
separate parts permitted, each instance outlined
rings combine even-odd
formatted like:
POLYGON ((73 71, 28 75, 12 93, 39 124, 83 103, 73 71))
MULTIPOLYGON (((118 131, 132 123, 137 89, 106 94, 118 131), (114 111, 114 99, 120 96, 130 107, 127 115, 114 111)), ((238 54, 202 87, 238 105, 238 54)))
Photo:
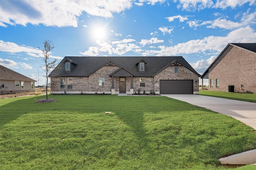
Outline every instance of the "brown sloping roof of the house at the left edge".
POLYGON ((0 65, 0 80, 16 80, 16 81, 28 81, 28 82, 36 82, 32 78, 24 76, 18 72, 10 70, 2 65, 0 65))

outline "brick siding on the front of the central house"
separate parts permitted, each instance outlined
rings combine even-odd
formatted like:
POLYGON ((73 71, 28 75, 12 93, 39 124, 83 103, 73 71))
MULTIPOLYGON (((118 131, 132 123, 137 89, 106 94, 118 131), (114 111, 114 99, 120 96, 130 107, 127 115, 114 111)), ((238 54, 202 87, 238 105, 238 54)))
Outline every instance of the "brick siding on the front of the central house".
MULTIPOLYGON (((117 70, 118 66, 103 66, 89 77, 73 77, 72 89, 60 89, 60 77, 51 78, 51 93, 52 94, 63 94, 63 93, 111 93, 112 77, 108 75, 117 70), (99 86, 98 78, 104 77, 104 86, 99 86)), ((151 90, 160 93, 159 83, 160 80, 194 80, 194 93, 199 91, 198 75, 190 71, 184 66, 178 66, 178 74, 174 74, 174 66, 169 66, 163 71, 159 72, 155 77, 145 77, 145 87, 140 87, 140 77, 133 78, 134 92, 141 90, 141 93, 145 90, 146 93, 150 93, 151 90), (155 86, 156 81, 158 85, 155 86)), ((119 93, 119 77, 114 77, 114 88, 115 92, 119 93)), ((130 92, 131 88, 131 77, 126 77, 126 92, 130 92)))

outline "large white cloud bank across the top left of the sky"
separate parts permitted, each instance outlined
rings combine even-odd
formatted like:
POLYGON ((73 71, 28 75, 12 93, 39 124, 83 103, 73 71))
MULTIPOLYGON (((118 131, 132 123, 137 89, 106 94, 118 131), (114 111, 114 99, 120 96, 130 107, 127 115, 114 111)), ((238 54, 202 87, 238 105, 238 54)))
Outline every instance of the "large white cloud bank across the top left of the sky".
POLYGON ((46 26, 78 26, 78 17, 83 12, 92 16, 112 18, 112 13, 120 13, 132 7, 130 0, 1 0, 0 26, 24 25, 28 23, 46 26))

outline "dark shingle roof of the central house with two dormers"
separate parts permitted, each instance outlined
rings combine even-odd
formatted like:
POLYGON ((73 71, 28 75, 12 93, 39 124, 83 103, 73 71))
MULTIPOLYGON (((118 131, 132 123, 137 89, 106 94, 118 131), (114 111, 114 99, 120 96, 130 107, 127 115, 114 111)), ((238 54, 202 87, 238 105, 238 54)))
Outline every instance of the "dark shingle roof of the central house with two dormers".
MULTIPOLYGON (((118 67, 122 67, 134 76, 154 76, 163 68, 166 68, 168 64, 178 61, 183 66, 201 76, 188 64, 188 62, 181 56, 174 57, 64 57, 64 59, 58 64, 58 66, 50 73, 50 77, 54 76, 89 76, 94 73, 106 63, 112 62, 118 67), (64 61, 67 59, 78 63, 76 66, 72 66, 70 72, 65 72, 64 61), (137 63, 144 61, 145 72, 139 72, 137 63)), ((112 75, 112 74, 110 74, 112 75)))

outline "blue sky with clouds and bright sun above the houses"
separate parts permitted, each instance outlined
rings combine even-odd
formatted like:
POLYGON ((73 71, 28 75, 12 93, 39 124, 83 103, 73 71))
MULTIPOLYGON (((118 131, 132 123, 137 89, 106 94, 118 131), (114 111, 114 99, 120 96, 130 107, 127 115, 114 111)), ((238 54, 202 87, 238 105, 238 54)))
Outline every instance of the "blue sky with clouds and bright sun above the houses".
POLYGON ((202 74, 228 43, 256 42, 256 0, 0 0, 1 65, 45 85, 45 40, 58 63, 183 56, 202 74))

